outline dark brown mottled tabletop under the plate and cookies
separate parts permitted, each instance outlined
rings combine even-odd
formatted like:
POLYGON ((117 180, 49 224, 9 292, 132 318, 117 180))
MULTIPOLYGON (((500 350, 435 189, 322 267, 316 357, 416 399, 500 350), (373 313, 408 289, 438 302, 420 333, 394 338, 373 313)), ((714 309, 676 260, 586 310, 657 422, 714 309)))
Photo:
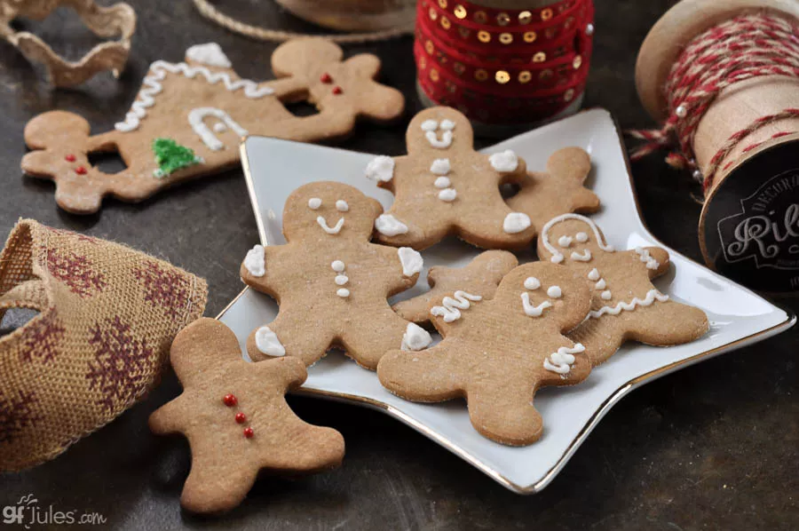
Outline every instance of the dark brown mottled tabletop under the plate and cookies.
MULTIPOLYGON (((215 315, 240 291, 240 260, 257 241, 241 171, 179 186, 144 204, 107 201, 91 217, 59 210, 51 184, 20 175, 22 129, 28 119, 62 108, 86 116, 93 131, 107 131, 127 111, 147 65, 154 59, 179 60, 190 44, 216 41, 241 75, 270 75, 273 45, 216 28, 188 0, 131 4, 138 9, 138 32, 122 83, 101 75, 77 90, 51 91, 11 46, 0 44, 0 234, 22 216, 131 244, 208 278, 207 314, 215 315)), ((312 31, 272 2, 218 4, 266 26, 312 31)), ((637 101, 634 62, 647 29, 671 2, 597 4, 586 105, 610 109, 625 128, 651 125, 637 101)), ((94 42, 71 16, 25 27, 73 58, 94 42)), ((384 59, 384 81, 405 92, 408 115, 419 108, 411 46, 411 39, 404 38, 347 48, 348 53, 376 52, 384 59)), ((399 154, 406 123, 390 128, 364 124, 342 146, 399 154)), ((700 205, 692 198, 698 187, 657 156, 634 164, 633 172, 653 233, 699 259, 700 205)), ((782 302, 799 307, 795 300, 782 302)), ((303 479, 261 480, 248 500, 222 519, 180 511, 187 445, 147 430, 150 412, 179 391, 170 374, 148 400, 64 456, 28 472, 0 476, 0 507, 33 493, 45 509, 52 503, 62 511, 99 511, 110 526, 151 529, 797 528, 797 346, 795 332, 788 332, 645 385, 613 408, 550 487, 526 497, 381 413, 291 398, 292 407, 309 422, 344 433, 344 466, 303 479)))

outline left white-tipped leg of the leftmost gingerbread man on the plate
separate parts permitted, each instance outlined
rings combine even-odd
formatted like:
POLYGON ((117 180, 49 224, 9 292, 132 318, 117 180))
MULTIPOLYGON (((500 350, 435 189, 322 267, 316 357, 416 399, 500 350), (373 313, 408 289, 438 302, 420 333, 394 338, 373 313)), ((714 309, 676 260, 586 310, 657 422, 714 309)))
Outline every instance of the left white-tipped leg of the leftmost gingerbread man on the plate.
POLYGON ((274 321, 249 334, 247 353, 253 361, 295 356, 310 366, 324 357, 333 342, 333 333, 320 324, 309 322, 305 313, 278 313, 274 321))

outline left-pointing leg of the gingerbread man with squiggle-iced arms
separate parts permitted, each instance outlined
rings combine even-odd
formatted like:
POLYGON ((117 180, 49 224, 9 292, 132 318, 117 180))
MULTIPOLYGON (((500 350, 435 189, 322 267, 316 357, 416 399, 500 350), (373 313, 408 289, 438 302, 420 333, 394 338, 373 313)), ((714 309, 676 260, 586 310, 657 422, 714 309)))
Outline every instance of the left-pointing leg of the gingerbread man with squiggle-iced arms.
POLYGON ((441 402, 463 396, 465 381, 456 354, 437 346, 418 353, 392 351, 377 367, 380 383, 406 400, 441 402))

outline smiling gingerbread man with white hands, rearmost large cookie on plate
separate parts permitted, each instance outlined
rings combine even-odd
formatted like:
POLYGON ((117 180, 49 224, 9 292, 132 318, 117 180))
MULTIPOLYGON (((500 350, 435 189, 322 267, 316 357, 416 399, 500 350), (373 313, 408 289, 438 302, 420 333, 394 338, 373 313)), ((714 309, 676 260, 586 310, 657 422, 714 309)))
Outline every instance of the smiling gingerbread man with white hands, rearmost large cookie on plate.
POLYGON ((366 175, 394 194, 377 218, 379 242, 421 250, 455 234, 485 249, 521 249, 535 236, 530 218, 511 210, 500 186, 525 178, 512 151, 474 150, 471 123, 450 107, 423 110, 407 127, 407 155, 378 156, 366 175))

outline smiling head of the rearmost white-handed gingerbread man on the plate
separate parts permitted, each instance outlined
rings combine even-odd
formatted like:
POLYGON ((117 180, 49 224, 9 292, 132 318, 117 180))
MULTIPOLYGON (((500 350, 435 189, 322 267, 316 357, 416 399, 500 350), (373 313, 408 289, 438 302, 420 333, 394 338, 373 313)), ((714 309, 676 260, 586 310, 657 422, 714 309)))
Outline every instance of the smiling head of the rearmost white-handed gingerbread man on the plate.
POLYGON ((408 153, 443 154, 474 148, 471 123, 452 107, 431 107, 415 115, 407 126, 408 153))

